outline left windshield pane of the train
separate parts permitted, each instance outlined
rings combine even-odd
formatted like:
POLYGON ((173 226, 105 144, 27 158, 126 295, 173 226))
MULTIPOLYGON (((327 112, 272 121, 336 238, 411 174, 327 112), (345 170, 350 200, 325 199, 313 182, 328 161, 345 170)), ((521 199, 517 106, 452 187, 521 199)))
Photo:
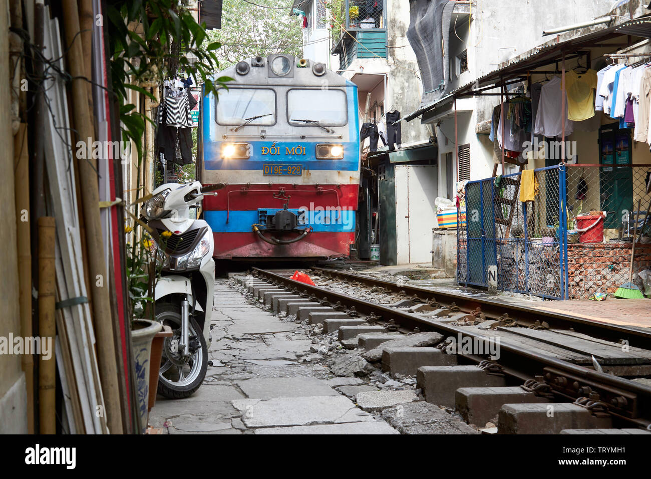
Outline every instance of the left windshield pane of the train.
POLYGON ((270 89, 221 90, 215 108, 219 124, 268 126, 276 123, 276 94, 270 89))

